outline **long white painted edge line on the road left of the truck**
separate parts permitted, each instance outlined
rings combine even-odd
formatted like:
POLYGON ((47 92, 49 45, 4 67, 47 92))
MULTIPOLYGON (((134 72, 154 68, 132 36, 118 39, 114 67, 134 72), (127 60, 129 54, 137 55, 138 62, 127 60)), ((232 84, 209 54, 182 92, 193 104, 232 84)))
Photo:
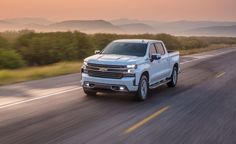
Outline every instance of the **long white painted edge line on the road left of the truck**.
POLYGON ((56 93, 44 95, 44 96, 41 96, 41 97, 36 97, 36 98, 28 99, 28 100, 22 100, 22 101, 19 101, 19 102, 14 102, 14 103, 11 103, 11 104, 6 104, 6 105, 3 105, 3 106, 0 106, 0 109, 8 108, 8 107, 11 107, 11 106, 15 106, 15 105, 35 101, 35 100, 40 100, 40 99, 43 99, 43 98, 52 97, 52 96, 55 96, 55 95, 58 95, 58 94, 63 94, 63 93, 66 93, 66 92, 71 92, 71 91, 75 91, 75 90, 79 90, 79 89, 82 89, 82 87, 63 90, 63 91, 59 91, 59 92, 56 92, 56 93))

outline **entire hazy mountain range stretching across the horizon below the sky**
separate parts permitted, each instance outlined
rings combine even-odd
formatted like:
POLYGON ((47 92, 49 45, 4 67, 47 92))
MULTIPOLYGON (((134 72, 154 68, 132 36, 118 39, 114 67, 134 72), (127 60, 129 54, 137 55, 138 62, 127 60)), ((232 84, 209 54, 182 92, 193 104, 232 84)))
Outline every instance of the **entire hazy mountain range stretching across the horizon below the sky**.
POLYGON ((173 35, 236 36, 236 22, 224 21, 173 21, 117 19, 67 20, 52 22, 44 18, 12 18, 0 20, 0 31, 33 29, 35 31, 81 31, 85 33, 168 33, 173 35))

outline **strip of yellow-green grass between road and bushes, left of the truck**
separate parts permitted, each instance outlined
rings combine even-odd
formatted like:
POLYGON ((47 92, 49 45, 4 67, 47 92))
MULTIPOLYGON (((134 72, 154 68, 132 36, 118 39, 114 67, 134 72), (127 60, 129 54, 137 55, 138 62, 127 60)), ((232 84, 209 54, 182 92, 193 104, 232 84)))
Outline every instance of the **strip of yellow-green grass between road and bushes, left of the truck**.
POLYGON ((42 67, 0 70, 0 85, 80 72, 81 62, 60 62, 42 67))

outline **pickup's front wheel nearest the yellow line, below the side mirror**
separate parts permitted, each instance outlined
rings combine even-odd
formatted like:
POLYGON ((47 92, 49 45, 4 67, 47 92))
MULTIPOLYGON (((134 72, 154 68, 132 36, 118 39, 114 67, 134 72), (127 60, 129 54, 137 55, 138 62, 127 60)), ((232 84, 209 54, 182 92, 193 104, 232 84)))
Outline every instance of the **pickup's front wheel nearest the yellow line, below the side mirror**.
POLYGON ((148 97, 149 85, 147 76, 142 75, 139 81, 138 91, 135 95, 136 100, 144 101, 148 97))

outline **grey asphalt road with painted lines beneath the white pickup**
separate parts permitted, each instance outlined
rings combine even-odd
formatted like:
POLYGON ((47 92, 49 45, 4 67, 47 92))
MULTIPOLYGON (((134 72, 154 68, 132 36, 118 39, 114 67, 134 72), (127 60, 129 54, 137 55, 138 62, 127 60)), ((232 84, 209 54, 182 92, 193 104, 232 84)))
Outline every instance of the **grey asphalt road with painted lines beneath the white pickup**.
POLYGON ((181 63, 145 102, 86 97, 79 74, 0 87, 0 144, 235 144, 236 49, 181 63))

